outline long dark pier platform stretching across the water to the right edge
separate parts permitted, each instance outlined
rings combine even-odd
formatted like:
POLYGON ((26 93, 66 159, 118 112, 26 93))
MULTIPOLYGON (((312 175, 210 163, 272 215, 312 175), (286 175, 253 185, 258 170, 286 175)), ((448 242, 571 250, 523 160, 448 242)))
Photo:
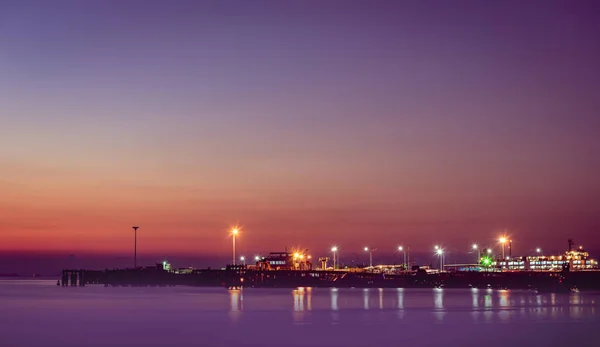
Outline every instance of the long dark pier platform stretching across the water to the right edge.
POLYGON ((577 287, 600 290, 600 271, 577 272, 475 272, 399 274, 345 270, 264 270, 246 265, 185 272, 162 267, 104 271, 63 270, 62 286, 198 286, 224 288, 491 288, 559 290, 577 287))

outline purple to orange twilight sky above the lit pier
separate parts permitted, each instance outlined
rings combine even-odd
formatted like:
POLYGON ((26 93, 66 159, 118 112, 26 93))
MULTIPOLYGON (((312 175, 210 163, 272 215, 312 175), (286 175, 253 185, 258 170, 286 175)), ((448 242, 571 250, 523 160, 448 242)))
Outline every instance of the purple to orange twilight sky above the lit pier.
POLYGON ((0 250, 600 249, 599 32, 594 1, 2 1, 0 250))

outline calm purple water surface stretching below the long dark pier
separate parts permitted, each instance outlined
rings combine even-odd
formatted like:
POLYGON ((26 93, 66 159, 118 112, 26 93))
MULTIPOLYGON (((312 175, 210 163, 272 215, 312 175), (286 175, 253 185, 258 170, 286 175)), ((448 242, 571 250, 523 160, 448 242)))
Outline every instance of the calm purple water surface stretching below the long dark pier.
POLYGON ((0 346, 568 346, 600 337, 599 293, 55 284, 0 280, 0 346))

